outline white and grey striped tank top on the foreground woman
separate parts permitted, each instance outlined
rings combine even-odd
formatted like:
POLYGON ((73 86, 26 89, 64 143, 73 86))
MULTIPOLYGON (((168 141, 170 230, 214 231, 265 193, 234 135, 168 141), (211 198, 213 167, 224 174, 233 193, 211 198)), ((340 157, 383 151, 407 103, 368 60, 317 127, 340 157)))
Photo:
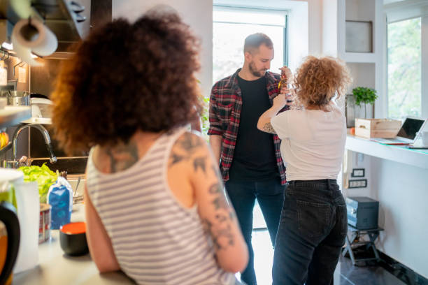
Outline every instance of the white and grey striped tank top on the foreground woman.
POLYGON ((180 205, 169 189, 171 147, 185 129, 165 133, 133 166, 101 173, 87 163, 87 191, 122 271, 138 284, 236 284, 215 262, 197 206, 180 205))

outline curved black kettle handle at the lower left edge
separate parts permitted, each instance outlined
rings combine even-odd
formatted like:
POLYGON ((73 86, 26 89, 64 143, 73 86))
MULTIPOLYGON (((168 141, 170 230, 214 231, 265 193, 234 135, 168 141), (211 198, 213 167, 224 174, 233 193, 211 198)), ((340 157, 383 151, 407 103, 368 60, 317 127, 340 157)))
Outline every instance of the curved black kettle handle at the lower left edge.
MULTIPOLYGON (((17 252, 20 247, 20 222, 18 221, 15 207, 13 207, 12 204, 4 201, 0 202, 0 221, 3 222, 7 231, 6 260, 4 261, 3 268, 0 268, 0 284, 6 284, 6 281, 12 273, 13 265, 15 265, 17 252)), ((0 233, 0 235, 2 235, 2 233, 0 233)), ((0 239, 1 238, 6 239, 4 236, 0 236, 0 239)), ((1 242, 1 247, 4 249, 3 241, 1 242)))

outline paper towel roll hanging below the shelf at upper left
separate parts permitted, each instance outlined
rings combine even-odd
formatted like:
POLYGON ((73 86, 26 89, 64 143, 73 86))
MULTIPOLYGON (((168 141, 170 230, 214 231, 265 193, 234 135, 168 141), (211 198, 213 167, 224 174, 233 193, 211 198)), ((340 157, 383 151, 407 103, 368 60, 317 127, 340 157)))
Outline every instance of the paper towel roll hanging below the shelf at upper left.
POLYGON ((12 31, 13 50, 18 57, 27 64, 40 66, 41 64, 31 57, 31 52, 45 57, 57 50, 58 41, 55 34, 42 22, 36 19, 20 20, 12 31))

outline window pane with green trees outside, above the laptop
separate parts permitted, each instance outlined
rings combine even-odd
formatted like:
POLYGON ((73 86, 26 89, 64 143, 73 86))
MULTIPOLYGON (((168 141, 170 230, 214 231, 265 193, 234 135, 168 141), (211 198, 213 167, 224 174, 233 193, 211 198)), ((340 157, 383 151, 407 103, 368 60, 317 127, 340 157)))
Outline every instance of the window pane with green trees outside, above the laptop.
POLYGON ((387 24, 388 117, 422 116, 422 18, 387 24))

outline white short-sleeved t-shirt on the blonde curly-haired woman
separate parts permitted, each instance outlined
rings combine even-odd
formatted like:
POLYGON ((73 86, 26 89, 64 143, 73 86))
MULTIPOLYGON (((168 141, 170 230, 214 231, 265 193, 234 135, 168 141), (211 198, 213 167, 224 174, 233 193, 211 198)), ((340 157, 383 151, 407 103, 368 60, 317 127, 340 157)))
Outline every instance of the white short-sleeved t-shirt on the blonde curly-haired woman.
POLYGON ((346 123, 340 109, 288 110, 271 119, 287 163, 287 180, 336 179, 341 170, 346 123))

